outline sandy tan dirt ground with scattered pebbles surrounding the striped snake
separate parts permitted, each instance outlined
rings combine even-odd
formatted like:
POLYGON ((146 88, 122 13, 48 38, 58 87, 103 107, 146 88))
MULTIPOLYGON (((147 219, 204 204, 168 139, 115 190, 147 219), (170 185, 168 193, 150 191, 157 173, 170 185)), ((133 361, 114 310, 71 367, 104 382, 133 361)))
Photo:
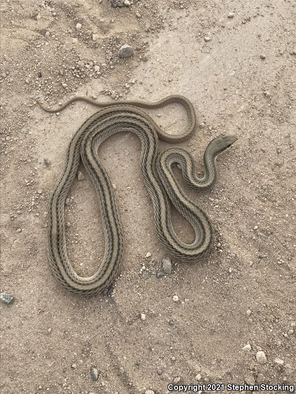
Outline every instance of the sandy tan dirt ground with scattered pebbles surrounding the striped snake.
MULTIPOLYGON (((296 2, 134 0, 113 8, 110 0, 7 0, 0 9, 0 290, 15 298, 0 305, 0 393, 295 384, 296 2), (134 56, 118 59, 125 43, 134 56), (75 103, 50 115, 36 99, 55 104, 74 94, 186 96, 199 127, 180 145, 200 173, 212 138, 238 136, 217 160, 211 191, 189 190, 178 173, 213 222, 208 261, 173 260, 172 274, 156 276, 169 256, 141 179, 140 141, 119 133, 99 154, 116 187, 120 276, 109 296, 74 296, 60 286, 47 260, 48 196, 71 135, 97 109, 75 103)), ((166 131, 186 127, 178 105, 150 114, 166 131)), ((67 242, 75 269, 89 275, 104 239, 97 197, 80 170, 85 179, 74 182, 65 207, 67 242)), ((173 214, 189 241, 190 226, 173 214)))

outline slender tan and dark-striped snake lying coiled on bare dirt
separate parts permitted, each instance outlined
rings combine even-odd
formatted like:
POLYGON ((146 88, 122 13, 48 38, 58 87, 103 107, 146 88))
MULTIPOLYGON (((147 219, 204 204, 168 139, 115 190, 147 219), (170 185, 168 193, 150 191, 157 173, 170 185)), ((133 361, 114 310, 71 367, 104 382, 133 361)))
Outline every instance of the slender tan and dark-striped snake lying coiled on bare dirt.
POLYGON ((189 199, 179 184, 173 164, 179 164, 185 183, 196 191, 211 188, 217 180, 216 158, 236 140, 235 135, 220 135, 210 141, 204 151, 204 176, 199 178, 195 160, 185 149, 174 146, 159 152, 159 139, 169 143, 185 141, 196 127, 193 104, 184 96, 172 95, 155 102, 113 101, 98 102, 76 96, 58 108, 48 107, 38 100, 47 112, 60 112, 69 104, 82 100, 100 109, 90 116, 74 133, 66 154, 66 163, 50 194, 48 205, 48 256, 58 281, 70 292, 91 296, 107 292, 115 280, 123 252, 123 237, 116 208, 114 189, 107 170, 98 155, 99 146, 111 135, 132 132, 141 141, 140 169, 154 212, 155 230, 160 242, 175 259, 200 261, 207 258, 214 245, 214 230, 207 214, 189 199), (141 108, 155 109, 170 103, 183 105, 188 127, 179 134, 170 134, 159 127, 141 108), (82 163, 98 196, 105 237, 105 253, 97 271, 80 276, 69 261, 65 236, 65 200, 82 163), (170 202, 189 222, 195 232, 192 243, 185 243, 172 225, 170 202))

